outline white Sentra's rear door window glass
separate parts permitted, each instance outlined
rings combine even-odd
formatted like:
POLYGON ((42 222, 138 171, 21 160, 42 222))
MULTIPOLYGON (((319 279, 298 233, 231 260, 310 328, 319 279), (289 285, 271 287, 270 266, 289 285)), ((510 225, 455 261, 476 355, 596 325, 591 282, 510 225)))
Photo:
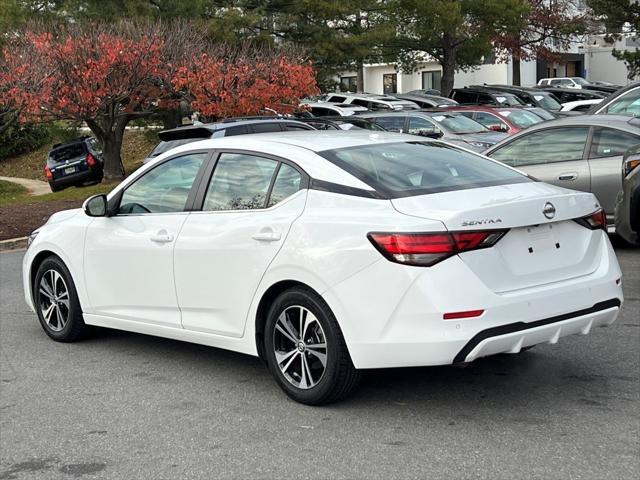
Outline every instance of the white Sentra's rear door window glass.
POLYGON ((203 210, 251 210, 264 208, 278 162, 241 153, 218 158, 203 210))

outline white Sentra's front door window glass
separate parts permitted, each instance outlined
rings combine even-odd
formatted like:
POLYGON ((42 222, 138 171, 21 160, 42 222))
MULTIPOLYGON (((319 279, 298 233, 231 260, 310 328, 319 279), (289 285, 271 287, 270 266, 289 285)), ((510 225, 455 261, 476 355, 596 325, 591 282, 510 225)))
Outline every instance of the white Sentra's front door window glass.
POLYGON ((126 188, 119 214, 182 212, 207 153, 192 153, 161 163, 126 188))

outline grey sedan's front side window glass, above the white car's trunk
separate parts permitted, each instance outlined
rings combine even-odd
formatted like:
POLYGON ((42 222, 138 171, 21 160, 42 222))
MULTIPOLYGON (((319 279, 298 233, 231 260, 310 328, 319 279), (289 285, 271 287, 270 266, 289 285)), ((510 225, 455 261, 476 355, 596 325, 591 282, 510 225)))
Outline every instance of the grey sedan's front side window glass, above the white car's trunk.
POLYGON ((512 167, 581 160, 588 127, 561 127, 532 132, 489 154, 512 167))

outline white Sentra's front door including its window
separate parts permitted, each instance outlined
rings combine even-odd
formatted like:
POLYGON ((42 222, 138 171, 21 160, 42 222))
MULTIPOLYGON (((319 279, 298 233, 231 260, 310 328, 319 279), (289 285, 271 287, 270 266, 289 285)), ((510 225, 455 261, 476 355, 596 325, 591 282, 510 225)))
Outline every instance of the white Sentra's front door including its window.
POLYGON ((90 313, 180 327, 173 248, 207 155, 159 164, 125 188, 117 215, 89 225, 84 270, 90 313))

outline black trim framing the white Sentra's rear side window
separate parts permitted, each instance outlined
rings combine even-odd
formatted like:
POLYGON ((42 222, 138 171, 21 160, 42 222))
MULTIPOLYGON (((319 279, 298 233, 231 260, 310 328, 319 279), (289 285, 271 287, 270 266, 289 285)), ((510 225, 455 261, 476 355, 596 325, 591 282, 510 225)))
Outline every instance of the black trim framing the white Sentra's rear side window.
POLYGON ((293 167, 301 175, 302 179, 300 181, 300 189, 298 191, 308 190, 309 189, 309 184, 311 183, 311 177, 298 164, 292 162, 289 159, 282 158, 282 157, 279 157, 277 155, 271 155, 269 153, 256 152, 256 151, 253 151, 253 150, 243 150, 243 149, 234 149, 234 148, 221 148, 221 149, 211 150, 211 156, 209 157, 209 161, 208 161, 207 167, 202 172, 200 183, 198 184, 198 188, 197 188, 196 193, 194 195, 194 200, 193 200, 193 205, 192 205, 191 211, 192 212, 202 212, 202 213, 256 212, 256 211, 264 211, 264 210, 269 210, 271 208, 276 208, 282 202, 276 203, 275 205, 272 205, 270 207, 267 207, 267 205, 269 205, 269 200, 271 199, 271 191, 273 190, 273 185, 275 184, 276 177, 278 175, 278 172, 280 171, 280 164, 282 164, 282 163, 285 163, 285 164, 289 165, 290 167, 293 167), (218 161, 220 160, 220 157, 225 153, 236 154, 236 155, 251 155, 251 156, 254 156, 254 157, 265 158, 265 159, 273 160, 273 161, 277 162, 276 168, 273 171, 273 175, 271 177, 271 182, 269 184, 269 189, 267 191, 267 195, 265 197, 264 206, 262 208, 251 208, 251 209, 242 209, 242 210, 203 210, 204 199, 207 196, 207 190, 209 189, 209 183, 211 183, 211 179, 213 178, 213 173, 215 172, 215 169, 216 169, 216 167, 218 165, 218 161))

